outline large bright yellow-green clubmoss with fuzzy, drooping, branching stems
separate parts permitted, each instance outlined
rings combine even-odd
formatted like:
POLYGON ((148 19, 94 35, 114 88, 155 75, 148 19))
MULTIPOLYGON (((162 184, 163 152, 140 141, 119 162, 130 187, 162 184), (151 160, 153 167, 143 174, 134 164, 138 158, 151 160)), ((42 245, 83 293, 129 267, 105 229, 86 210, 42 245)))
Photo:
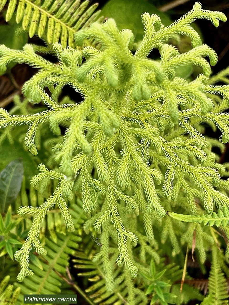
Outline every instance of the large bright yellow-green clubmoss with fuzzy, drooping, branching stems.
POLYGON ((75 192, 88 217, 85 231, 93 228, 99 235, 102 246, 95 259, 103 264, 106 289, 113 291, 117 284, 117 263, 123 267, 119 279, 128 287, 129 304, 136 301, 132 279, 138 270, 144 269, 149 257, 159 263, 158 244, 166 252, 162 244, 169 239, 169 255, 179 253, 181 244, 175 232, 179 231, 178 236, 184 233, 181 242, 188 245, 195 234, 198 257, 205 260, 205 250, 215 240, 210 228, 199 223, 187 228, 166 216, 166 211, 208 215, 229 208, 228 180, 221 179, 226 167, 216 162, 217 155, 211 151, 212 146, 221 147, 221 142, 229 140, 229 115, 223 112, 229 105, 229 88, 217 85, 216 78, 209 79, 217 55, 190 26, 198 18, 215 26, 219 20, 226 21, 223 13, 202 10, 199 2, 168 27, 157 15, 144 13, 145 34, 134 53, 130 30, 119 31, 112 19, 96 22, 75 34, 77 48, 65 47, 66 42, 52 45, 57 64, 38 56, 32 45, 25 45, 22 51, 0 46, 2 71, 11 61, 39 69, 22 90, 30 102, 47 106, 42 112, 25 115, 11 115, 1 108, 1 127, 28 124, 25 146, 35 155, 35 137, 41 125, 48 124, 59 136, 59 125, 67 127, 53 146, 58 167, 49 170, 40 164, 40 173, 31 180, 42 191, 50 180, 59 181, 53 194, 41 206, 18 210, 22 216, 33 215, 28 237, 15 254, 21 264, 19 281, 33 274, 31 249, 46 254, 38 237, 54 205, 61 210, 67 228, 74 231, 66 200, 75 192), (190 37, 193 49, 180 54, 167 44, 178 34, 190 37), (100 48, 89 46, 88 39, 94 39, 100 48), (148 58, 154 48, 159 50, 160 60, 148 58), (189 81, 176 77, 176 68, 189 64, 201 67, 202 73, 189 81), (83 101, 60 103, 65 85, 79 92, 83 101), (203 123, 220 129, 220 142, 203 136, 203 123), (153 228, 159 234, 154 236, 153 228), (138 245, 141 263, 134 255, 138 245))

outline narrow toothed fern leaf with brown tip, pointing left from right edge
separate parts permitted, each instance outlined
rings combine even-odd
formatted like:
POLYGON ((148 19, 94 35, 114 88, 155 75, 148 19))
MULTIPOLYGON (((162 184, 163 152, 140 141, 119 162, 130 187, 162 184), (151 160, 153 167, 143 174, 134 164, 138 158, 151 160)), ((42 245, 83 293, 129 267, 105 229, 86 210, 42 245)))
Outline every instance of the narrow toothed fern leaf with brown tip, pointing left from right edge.
POLYGON ((212 215, 202 214, 202 215, 184 215, 177 214, 174 212, 167 212, 170 217, 184 222, 194 222, 199 224, 204 224, 208 226, 216 225, 217 227, 226 227, 229 224, 229 210, 224 207, 223 210, 218 210, 218 213, 213 212, 212 215))

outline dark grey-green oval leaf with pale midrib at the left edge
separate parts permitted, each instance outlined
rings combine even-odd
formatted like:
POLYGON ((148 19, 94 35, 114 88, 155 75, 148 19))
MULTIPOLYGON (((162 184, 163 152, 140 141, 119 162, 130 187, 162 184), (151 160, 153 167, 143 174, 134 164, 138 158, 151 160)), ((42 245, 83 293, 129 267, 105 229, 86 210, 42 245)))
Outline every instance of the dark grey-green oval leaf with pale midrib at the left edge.
MULTIPOLYGON (((0 173, 0 211, 3 213, 21 188, 23 164, 21 159, 10 162, 0 173)), ((6 224, 7 225, 7 224, 6 224)))

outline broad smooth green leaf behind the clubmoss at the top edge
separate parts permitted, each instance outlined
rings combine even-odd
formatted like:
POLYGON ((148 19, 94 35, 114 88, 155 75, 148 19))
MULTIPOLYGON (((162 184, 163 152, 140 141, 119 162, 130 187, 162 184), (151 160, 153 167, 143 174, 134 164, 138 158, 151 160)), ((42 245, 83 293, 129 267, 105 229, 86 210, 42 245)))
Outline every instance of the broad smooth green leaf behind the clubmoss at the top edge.
POLYGON ((139 0, 110 0, 102 8, 100 16, 113 18, 119 30, 132 30, 136 41, 139 41, 144 34, 141 14, 145 12, 157 14, 165 26, 171 23, 169 17, 154 5, 139 0))

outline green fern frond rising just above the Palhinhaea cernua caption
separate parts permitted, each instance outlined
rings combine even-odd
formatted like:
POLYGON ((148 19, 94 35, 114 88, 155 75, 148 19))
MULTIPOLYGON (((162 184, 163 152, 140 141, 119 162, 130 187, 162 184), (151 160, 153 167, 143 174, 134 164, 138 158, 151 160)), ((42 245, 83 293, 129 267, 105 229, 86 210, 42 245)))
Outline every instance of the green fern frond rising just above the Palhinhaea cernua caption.
MULTIPOLYGON (((10 212, 11 210, 8 211, 8 215, 5 217, 6 221, 10 218, 10 212)), ((78 247, 78 243, 81 242, 81 238, 78 235, 78 229, 85 218, 80 206, 73 205, 70 209, 70 213, 73 218, 75 232, 66 233, 65 235, 56 232, 57 240, 55 242, 46 238, 45 250, 47 251, 47 255, 45 258, 38 256, 35 252, 35 254, 30 253, 31 264, 29 267, 34 272, 33 276, 28 276, 22 283, 15 282, 13 285, 10 285, 10 291, 12 292, 13 289, 15 293, 17 292, 15 296, 17 302, 15 304, 21 305, 23 303, 23 294, 63 293, 61 290, 63 280, 60 277, 60 274, 66 274, 66 267, 69 265, 69 256, 75 254, 75 249, 78 247)), ((14 227, 15 226, 16 224, 14 224, 14 227)), ((19 233, 17 233, 17 235, 19 235, 19 233)), ((6 235, 3 237, 4 240, 7 240, 6 235)), ((10 239, 9 242, 13 242, 13 240, 10 239)), ((8 297, 11 300, 10 294, 8 297)), ((0 304, 2 305, 2 303, 0 304)), ((12 303, 12 305, 13 304, 14 303, 12 303)))

